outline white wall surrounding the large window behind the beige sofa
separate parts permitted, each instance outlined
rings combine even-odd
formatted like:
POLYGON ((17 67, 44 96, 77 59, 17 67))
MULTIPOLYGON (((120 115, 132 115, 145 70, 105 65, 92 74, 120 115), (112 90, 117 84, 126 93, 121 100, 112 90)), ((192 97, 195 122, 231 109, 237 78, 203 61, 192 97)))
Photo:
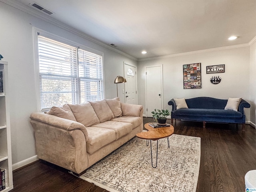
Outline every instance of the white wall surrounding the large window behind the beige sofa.
MULTIPOLYGON (((137 62, 3 2, 0 2, 0 18, 0 54, 2 60, 8 61, 12 163, 16 164, 36 155, 34 131, 29 122, 30 113, 37 112, 38 106, 33 27, 103 52, 106 98, 116 97, 114 79, 124 75, 123 63, 136 66, 137 62)), ((124 89, 124 84, 118 85, 118 89, 124 89)), ((124 102, 124 94, 118 95, 124 102)))

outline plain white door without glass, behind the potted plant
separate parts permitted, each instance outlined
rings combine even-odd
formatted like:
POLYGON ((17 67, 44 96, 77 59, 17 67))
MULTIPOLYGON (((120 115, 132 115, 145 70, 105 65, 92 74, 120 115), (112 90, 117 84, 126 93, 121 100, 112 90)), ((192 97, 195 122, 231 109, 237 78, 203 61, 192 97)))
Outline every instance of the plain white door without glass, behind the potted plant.
POLYGON ((162 109, 162 66, 146 67, 146 116, 162 109))

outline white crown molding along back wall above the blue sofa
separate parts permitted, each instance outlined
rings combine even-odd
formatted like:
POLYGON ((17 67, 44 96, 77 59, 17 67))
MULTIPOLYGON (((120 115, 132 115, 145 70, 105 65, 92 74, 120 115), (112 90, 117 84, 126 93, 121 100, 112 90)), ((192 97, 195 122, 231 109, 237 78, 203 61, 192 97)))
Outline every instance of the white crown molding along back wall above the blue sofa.
POLYGON ((138 59, 138 62, 140 62, 140 61, 154 60, 154 59, 164 59, 164 58, 170 58, 170 57, 178 57, 178 56, 191 55, 191 54, 199 54, 199 53, 212 52, 212 51, 219 51, 219 50, 227 50, 227 49, 241 48, 241 47, 247 47, 247 46, 250 46, 250 45, 249 45, 248 43, 246 43, 246 44, 240 44, 240 45, 232 45, 232 46, 218 47, 218 48, 205 49, 205 50, 198 50, 198 51, 191 51, 191 52, 185 52, 185 53, 178 53, 178 54, 170 54, 170 55, 149 57, 149 58, 138 59))

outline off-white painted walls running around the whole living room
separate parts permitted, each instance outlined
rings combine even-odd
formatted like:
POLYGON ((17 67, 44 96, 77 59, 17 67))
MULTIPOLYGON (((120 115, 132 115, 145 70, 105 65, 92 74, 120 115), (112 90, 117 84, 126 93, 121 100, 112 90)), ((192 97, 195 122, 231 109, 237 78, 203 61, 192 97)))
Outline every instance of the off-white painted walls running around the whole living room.
MULTIPOLYGON (((251 120, 255 124, 256 43, 251 47, 141 61, 137 65, 136 61, 122 54, 76 36, 3 2, 0 2, 0 18, 0 54, 4 56, 3 60, 9 63, 13 164, 36 155, 34 131, 29 122, 30 113, 36 112, 38 105, 33 27, 103 52, 106 98, 116 97, 114 78, 123 75, 123 62, 126 62, 137 66, 138 104, 145 107, 145 66, 162 64, 165 109, 170 109, 167 103, 172 98, 210 96, 227 99, 228 97, 243 97, 251 104, 251 110, 245 110, 246 120, 251 120), (182 65, 197 62, 202 63, 202 89, 184 90, 182 65), (218 74, 222 78, 222 82, 213 85, 210 83, 210 77, 217 74, 206 74, 206 66, 218 64, 225 64, 225 73, 218 74)), ((124 84, 118 84, 120 91, 118 95, 124 102, 122 89, 124 89, 124 84)))

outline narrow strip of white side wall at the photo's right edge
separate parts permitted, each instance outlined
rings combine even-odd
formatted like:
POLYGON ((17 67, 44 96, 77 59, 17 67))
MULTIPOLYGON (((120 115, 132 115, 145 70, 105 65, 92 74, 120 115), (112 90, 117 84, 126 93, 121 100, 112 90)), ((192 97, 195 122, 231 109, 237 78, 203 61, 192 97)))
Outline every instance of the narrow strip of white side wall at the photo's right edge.
POLYGON ((251 107, 250 107, 250 121, 256 124, 256 42, 250 46, 250 100, 251 100, 251 107))

